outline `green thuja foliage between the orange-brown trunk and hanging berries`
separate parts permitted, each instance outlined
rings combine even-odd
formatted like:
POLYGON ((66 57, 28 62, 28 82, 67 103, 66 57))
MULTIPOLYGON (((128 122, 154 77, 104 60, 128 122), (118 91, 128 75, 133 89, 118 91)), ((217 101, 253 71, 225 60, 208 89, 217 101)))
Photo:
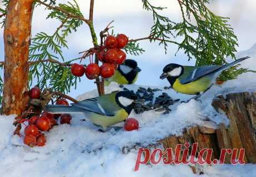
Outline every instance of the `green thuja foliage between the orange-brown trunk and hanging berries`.
MULTIPOLYGON (((49 2, 49 5, 52 4, 54 4, 54 1, 49 2)), ((82 16, 76 1, 72 3, 67 2, 67 4, 58 4, 58 7, 75 16, 82 16)), ((53 34, 41 32, 32 38, 29 48, 29 61, 35 62, 37 60, 55 59, 64 62, 64 64, 70 64, 79 59, 67 61, 62 54, 62 49, 68 48, 66 37, 68 34, 76 32, 77 28, 82 25, 82 21, 77 18, 72 18, 57 9, 51 10, 47 18, 57 19, 60 21, 61 25, 53 34)), ((53 62, 38 62, 32 64, 29 72, 30 85, 32 82, 35 82, 33 78, 37 79, 37 85, 40 88, 50 87, 52 90, 62 93, 70 92, 73 85, 76 87, 77 80, 80 81, 80 78, 71 74, 71 70, 67 65, 60 65, 53 62)))

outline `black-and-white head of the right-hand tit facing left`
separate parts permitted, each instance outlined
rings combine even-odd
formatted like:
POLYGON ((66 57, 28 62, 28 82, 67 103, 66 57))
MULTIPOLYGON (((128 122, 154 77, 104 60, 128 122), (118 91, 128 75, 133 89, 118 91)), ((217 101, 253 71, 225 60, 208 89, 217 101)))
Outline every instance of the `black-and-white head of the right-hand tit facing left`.
POLYGON ((184 73, 184 68, 182 65, 170 63, 166 65, 163 69, 163 74, 161 74, 160 79, 167 78, 171 85, 175 80, 184 73))

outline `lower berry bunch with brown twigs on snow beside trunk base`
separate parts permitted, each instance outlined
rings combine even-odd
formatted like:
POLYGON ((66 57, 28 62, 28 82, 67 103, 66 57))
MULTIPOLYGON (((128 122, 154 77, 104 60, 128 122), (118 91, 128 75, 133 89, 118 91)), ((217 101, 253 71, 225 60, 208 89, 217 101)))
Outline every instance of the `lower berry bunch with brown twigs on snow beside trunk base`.
POLYGON ((40 88, 33 87, 29 90, 29 105, 22 115, 15 118, 13 125, 16 129, 13 135, 19 135, 23 137, 24 144, 31 147, 44 146, 46 143, 46 136, 43 132, 47 132, 53 128, 53 126, 60 124, 70 124, 72 119, 70 114, 50 114, 43 111, 43 107, 50 101, 56 98, 55 104, 66 105, 69 103, 66 99, 77 103, 76 99, 71 98, 68 95, 52 92, 50 89, 45 89, 41 93, 40 88), (24 135, 21 134, 22 127, 24 127, 24 135))

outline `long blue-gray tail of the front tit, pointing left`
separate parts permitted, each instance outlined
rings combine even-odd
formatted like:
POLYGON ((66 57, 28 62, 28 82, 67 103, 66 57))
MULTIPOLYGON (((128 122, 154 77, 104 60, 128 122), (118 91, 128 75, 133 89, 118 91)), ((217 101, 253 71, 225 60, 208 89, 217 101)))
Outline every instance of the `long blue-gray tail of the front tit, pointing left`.
POLYGON ((48 104, 45 110, 52 114, 63 114, 63 113, 82 113, 79 108, 65 105, 52 105, 48 104))

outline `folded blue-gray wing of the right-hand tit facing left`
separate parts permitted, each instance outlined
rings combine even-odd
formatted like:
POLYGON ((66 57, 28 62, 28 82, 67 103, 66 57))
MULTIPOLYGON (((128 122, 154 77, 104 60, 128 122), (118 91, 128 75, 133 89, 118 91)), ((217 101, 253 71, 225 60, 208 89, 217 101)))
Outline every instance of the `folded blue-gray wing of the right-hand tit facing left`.
POLYGON ((216 70, 220 69, 220 65, 206 65, 201 67, 184 67, 184 74, 179 78, 181 84, 188 84, 194 82, 195 80, 204 77, 207 74, 213 73, 216 70))

